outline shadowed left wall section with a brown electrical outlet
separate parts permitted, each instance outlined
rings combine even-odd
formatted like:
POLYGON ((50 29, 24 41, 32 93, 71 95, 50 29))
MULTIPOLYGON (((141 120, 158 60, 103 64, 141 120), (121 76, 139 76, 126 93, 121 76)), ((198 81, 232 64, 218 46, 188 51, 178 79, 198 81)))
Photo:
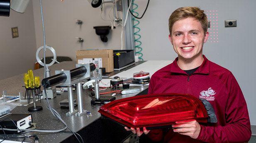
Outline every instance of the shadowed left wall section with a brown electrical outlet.
POLYGON ((0 50, 0 80, 34 70, 37 49, 32 2, 24 14, 11 9, 9 17, 0 16, 0 50), (18 38, 12 38, 12 27, 18 27, 18 38))

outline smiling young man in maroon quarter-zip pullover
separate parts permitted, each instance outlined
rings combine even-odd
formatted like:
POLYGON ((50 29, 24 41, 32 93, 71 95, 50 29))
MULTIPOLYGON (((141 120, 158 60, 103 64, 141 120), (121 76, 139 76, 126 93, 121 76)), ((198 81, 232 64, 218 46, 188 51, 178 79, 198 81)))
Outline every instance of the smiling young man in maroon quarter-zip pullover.
POLYGON ((202 54, 209 37, 207 24, 207 16, 198 7, 181 7, 171 14, 169 40, 178 57, 152 75, 148 94, 186 93, 205 98, 212 104, 218 122, 180 121, 172 125, 173 129, 151 131, 131 128, 134 134, 144 133, 152 141, 165 143, 249 141, 249 114, 235 77, 202 54))

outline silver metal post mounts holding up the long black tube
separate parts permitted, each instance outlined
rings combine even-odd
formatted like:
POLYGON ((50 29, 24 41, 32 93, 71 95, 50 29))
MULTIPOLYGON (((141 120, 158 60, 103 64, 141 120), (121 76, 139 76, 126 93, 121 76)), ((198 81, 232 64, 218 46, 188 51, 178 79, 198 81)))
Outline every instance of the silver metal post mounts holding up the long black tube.
POLYGON ((88 69, 83 76, 78 76, 73 79, 71 79, 71 72, 70 70, 56 70, 55 74, 59 73, 65 73, 67 80, 61 84, 58 84, 59 86, 68 86, 68 105, 69 105, 69 111, 66 113, 66 115, 70 116, 76 113, 76 116, 83 115, 86 112, 86 110, 83 110, 83 93, 82 93, 82 85, 81 81, 87 80, 90 78, 90 65, 89 64, 76 64, 76 68, 79 68, 80 66, 84 66, 86 69, 88 69), (73 90, 72 85, 77 85, 77 98, 78 98, 78 110, 74 110, 74 103, 73 103, 73 90))

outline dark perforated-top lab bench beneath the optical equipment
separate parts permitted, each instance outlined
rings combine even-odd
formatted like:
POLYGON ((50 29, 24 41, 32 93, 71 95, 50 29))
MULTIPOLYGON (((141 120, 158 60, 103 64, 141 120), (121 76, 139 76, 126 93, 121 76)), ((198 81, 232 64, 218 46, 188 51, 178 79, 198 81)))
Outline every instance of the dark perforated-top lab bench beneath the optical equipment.
MULTIPOLYGON (((130 66, 126 69, 137 66, 142 62, 136 63, 133 66, 130 66)), ((55 75, 55 70, 71 70, 76 68, 76 62, 74 61, 64 61, 59 64, 54 64, 51 68, 51 75, 55 75)), ((114 71, 110 73, 110 76, 115 75, 116 73, 122 72, 114 71)), ((44 78, 44 69, 40 68, 38 70, 33 71, 34 76, 39 76, 40 80, 44 78)), ((111 80, 111 79, 109 79, 111 80)), ((24 76, 23 74, 17 75, 14 77, 7 78, 5 80, 0 80, 0 91, 6 90, 7 95, 18 95, 19 92, 23 92, 23 96, 25 93, 24 86, 24 76)), ((140 92, 136 94, 117 94, 116 99, 126 98, 130 96, 137 96, 147 94, 148 86, 130 86, 130 88, 139 88, 140 92)), ((122 87, 117 87, 115 90, 120 90, 122 87)), ((43 88, 41 88, 43 90, 43 88)), ((112 91, 110 87, 107 87, 106 90, 101 92, 112 91)), ((103 96, 111 96, 112 94, 104 94, 103 96)), ((102 119, 100 113, 98 113, 101 105, 91 105, 91 100, 93 97, 89 96, 88 91, 83 89, 83 109, 89 111, 92 116, 87 116, 86 114, 81 116, 71 115, 66 116, 68 113, 68 108, 60 108, 59 102, 64 99, 68 99, 68 92, 64 92, 62 95, 57 95, 54 99, 49 99, 49 103, 52 108, 54 108, 60 115, 61 118, 68 127, 71 128, 72 131, 80 134, 83 138, 84 143, 119 143, 123 142, 129 135, 131 135, 131 131, 126 131, 124 126, 114 122, 112 120, 102 119)), ((76 90, 73 91, 73 99, 77 99, 76 90)), ((11 113, 20 113, 20 114, 32 114, 33 123, 36 124, 37 129, 44 130, 59 130, 65 128, 65 125, 55 118, 51 112, 46 109, 48 103, 46 99, 41 99, 36 102, 37 106, 42 106, 43 110, 37 112, 28 112, 28 108, 33 106, 33 104, 27 106, 17 106, 15 109, 11 111, 11 113)), ((78 110, 78 107, 75 107, 75 110, 78 110)), ((66 129, 65 131, 70 131, 66 129)), ((37 135, 39 138, 39 143, 68 143, 68 142, 78 142, 76 137, 71 132, 59 132, 59 133, 50 133, 50 132, 29 132, 27 135, 37 135)), ((78 137, 79 138, 79 137, 78 137)), ((1 138, 3 139, 3 138, 1 138)), ((80 139, 80 138, 79 138, 80 139)), ((7 138, 6 140, 11 141, 22 141, 23 138, 7 138)), ((34 139, 26 138, 24 142, 34 143, 34 139)))

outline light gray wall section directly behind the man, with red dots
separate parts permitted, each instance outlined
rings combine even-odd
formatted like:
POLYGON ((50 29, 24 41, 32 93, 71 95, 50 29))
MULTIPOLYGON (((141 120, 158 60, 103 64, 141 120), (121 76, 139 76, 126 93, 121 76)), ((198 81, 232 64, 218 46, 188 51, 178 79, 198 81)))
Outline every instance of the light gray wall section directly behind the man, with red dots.
MULTIPOLYGON (((138 8, 140 14, 146 2, 147 0, 136 1, 141 7, 141 9, 138 8)), ((203 53, 209 60, 232 71, 244 93, 251 124, 256 125, 255 5, 255 0, 151 0, 148 11, 144 18, 139 20, 138 26, 141 28, 144 60, 173 60, 177 56, 168 39, 168 18, 175 9, 197 6, 208 11, 206 13, 209 14, 208 17, 211 14, 211 20, 214 12, 210 11, 217 10, 218 18, 216 19, 215 15, 215 26, 218 27, 215 27, 215 32, 218 33, 211 33, 210 38, 215 35, 218 42, 217 39, 215 42, 210 42, 209 39, 204 45, 203 53), (224 20, 233 19, 237 20, 237 27, 225 28, 224 20), (217 31, 216 28, 218 28, 217 31)))

